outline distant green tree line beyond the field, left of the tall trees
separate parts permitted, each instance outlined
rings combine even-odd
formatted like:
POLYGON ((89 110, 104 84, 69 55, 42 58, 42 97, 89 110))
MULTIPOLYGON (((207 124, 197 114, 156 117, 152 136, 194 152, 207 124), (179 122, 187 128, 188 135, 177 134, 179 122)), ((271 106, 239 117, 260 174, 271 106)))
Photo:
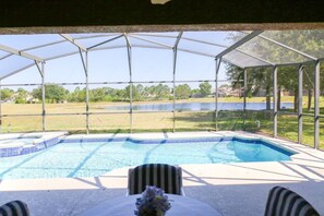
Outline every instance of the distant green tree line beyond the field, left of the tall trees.
MULTIPOLYGON (((88 91, 89 101, 129 101, 132 92, 134 101, 172 99, 173 92, 168 85, 158 84, 143 86, 142 84, 131 84, 124 88, 97 87, 88 91)), ((202 82, 199 88, 191 88, 188 84, 177 85, 175 88, 176 99, 188 99, 190 97, 207 97, 212 94, 212 85, 202 82)), ((58 84, 46 84, 45 99, 47 103, 83 103, 86 99, 86 88, 75 87, 69 91, 58 84)), ((2 101, 14 101, 15 104, 40 103, 43 100, 41 86, 28 92, 24 88, 13 91, 11 88, 1 89, 2 101)))

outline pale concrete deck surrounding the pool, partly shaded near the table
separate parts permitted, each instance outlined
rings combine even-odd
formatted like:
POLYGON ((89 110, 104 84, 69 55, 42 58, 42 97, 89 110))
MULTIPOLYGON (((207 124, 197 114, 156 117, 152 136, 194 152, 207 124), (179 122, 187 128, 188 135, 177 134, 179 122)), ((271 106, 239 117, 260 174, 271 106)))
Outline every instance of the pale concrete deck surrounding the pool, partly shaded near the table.
MULTIPOLYGON (((108 135, 117 137, 125 134, 108 135)), ((259 216, 263 215, 269 189, 284 185, 304 196, 324 215, 324 152, 245 132, 142 133, 131 136, 166 139, 224 135, 266 139, 299 154, 293 155, 290 161, 180 165, 187 196, 208 203, 225 216, 259 216)), ((99 136, 107 137, 107 134, 69 137, 99 136)), ((2 180, 0 204, 22 200, 27 203, 33 216, 79 215, 104 201, 125 195, 127 175, 128 168, 122 168, 95 178, 2 180)))

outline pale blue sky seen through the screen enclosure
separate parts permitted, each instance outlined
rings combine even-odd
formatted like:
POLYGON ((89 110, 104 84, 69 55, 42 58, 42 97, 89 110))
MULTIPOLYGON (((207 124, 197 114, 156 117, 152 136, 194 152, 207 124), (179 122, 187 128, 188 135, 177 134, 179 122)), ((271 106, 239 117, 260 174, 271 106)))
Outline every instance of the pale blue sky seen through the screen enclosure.
MULTIPOLYGON (((177 35, 178 33, 164 33, 165 35, 177 35)), ((190 37, 193 39, 202 39, 206 41, 217 43, 229 46, 230 41, 226 39, 228 33, 208 33, 208 32, 193 32, 184 33, 182 37, 190 37)), ((77 37, 80 35, 72 35, 77 37)), ((84 34, 82 35, 84 36, 84 34)), ((115 37, 115 36, 111 36, 115 37)), ((142 36, 143 37, 143 36, 142 36)), ((154 39, 159 44, 172 46, 175 39, 145 37, 146 39, 154 39)), ((0 35, 0 45, 11 46, 15 49, 24 49, 37 45, 43 45, 49 41, 61 40, 59 35, 0 35)), ((80 39, 80 44, 86 47, 93 46, 103 41, 103 38, 80 39)), ((132 45, 152 45, 136 38, 130 38, 132 45)), ((113 40, 109 46, 124 45, 124 38, 121 37, 113 40)), ((223 49, 215 46, 197 45, 190 40, 180 40, 179 49, 195 49, 206 53, 218 53, 223 49), (197 47, 199 46, 199 47, 197 47)), ((47 47, 43 49, 35 49, 28 51, 35 56, 50 57, 60 53, 60 51, 71 52, 76 51, 75 47, 67 41, 57 46, 56 48, 47 47)), ((1 57, 1 52, 0 52, 1 57)), ((5 62, 5 70, 13 70, 12 68, 20 68, 25 62, 29 62, 21 57, 14 57, 11 61, 5 62)), ((3 67, 3 64, 2 64, 3 67)), ((0 70, 0 73, 1 73, 0 70)), ((149 49, 149 48, 132 48, 132 80, 134 82, 145 81, 172 81, 173 72, 173 52, 171 49, 149 49)), ((219 71, 219 80, 225 80, 225 64, 223 63, 219 71)), ((178 51, 177 81, 195 81, 195 80, 215 80, 215 60, 214 58, 203 57, 199 55, 178 51)), ((125 48, 116 48, 108 50, 91 51, 88 52, 88 81, 89 82, 128 82, 130 81, 130 70, 128 62, 128 52, 125 48)), ((84 83, 85 73, 82 65, 80 55, 64 57, 56 60, 47 61, 45 64, 45 82, 46 83, 84 83)), ((19 72, 1 81, 1 84, 21 84, 21 83, 41 83, 39 72, 36 67, 19 72)), ((200 83, 190 83, 193 88, 196 88, 200 83)), ((171 84, 170 84, 171 85, 171 84)), ((213 85, 213 84, 212 84, 213 85)), ((91 85, 89 88, 99 87, 101 85, 91 85)), ((213 85, 214 86, 214 85, 213 85)), ((12 86, 16 89, 21 86, 12 86)), ((75 86, 64 86, 68 89, 74 89, 75 86)), ((81 86, 82 87, 82 86, 81 86)), ((123 88, 124 85, 109 85, 109 87, 123 88)), ((28 91, 35 86, 24 87, 28 91)))

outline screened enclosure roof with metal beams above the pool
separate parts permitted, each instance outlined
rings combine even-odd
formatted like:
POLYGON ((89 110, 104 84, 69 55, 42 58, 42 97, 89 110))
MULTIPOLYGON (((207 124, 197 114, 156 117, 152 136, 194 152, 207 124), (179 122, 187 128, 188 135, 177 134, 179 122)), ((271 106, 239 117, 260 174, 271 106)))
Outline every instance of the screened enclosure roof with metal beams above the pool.
POLYGON ((0 35, 0 80, 53 59, 127 47, 190 52, 240 68, 302 64, 323 59, 324 31, 0 35))

